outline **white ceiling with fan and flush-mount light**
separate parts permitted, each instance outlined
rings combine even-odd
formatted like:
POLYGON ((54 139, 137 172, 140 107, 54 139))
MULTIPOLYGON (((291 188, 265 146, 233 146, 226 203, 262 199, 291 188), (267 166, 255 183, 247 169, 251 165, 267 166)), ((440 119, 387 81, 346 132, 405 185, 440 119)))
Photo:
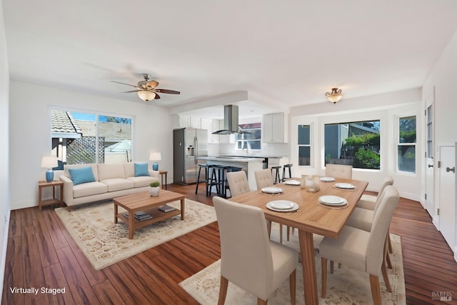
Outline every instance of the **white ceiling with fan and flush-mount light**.
POLYGON ((328 103, 334 86, 416 88, 457 29, 455 0, 1 1, 11 79, 144 103, 110 81, 149 73, 181 91, 149 103, 175 109, 233 91, 270 111, 328 103))

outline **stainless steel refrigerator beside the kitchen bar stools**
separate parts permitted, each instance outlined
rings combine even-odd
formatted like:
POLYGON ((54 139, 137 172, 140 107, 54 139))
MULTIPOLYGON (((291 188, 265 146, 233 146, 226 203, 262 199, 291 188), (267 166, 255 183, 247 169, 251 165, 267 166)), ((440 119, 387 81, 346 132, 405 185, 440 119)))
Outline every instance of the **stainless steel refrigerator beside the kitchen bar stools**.
MULTIPOLYGON (((199 164, 206 164, 200 157, 208 156, 208 131, 181 128, 173 131, 173 179, 176 184, 194 184, 199 164)), ((205 179, 201 171, 200 179, 205 179)))

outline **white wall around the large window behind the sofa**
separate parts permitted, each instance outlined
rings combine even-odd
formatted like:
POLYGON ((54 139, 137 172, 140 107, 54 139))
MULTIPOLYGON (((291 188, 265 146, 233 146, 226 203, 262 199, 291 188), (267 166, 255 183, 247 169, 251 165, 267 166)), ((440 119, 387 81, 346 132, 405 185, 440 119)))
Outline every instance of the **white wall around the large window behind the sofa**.
MULTIPOLYGON (((11 81, 9 89, 11 209, 38 205, 36 181, 44 179, 46 170, 40 167, 41 156, 51 152, 50 109, 55 107, 132 116, 132 160, 149 161, 151 151, 160 151, 159 168, 173 172, 173 131, 168 109, 21 81, 11 81)), ((169 179, 172 179, 170 175, 169 179)))

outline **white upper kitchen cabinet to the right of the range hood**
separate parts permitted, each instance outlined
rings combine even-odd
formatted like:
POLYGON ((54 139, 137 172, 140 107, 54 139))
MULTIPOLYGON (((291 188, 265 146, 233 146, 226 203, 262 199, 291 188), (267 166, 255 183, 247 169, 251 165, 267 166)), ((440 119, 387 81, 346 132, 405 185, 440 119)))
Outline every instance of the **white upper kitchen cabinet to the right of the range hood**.
POLYGON ((266 114, 262 118, 263 143, 287 143, 287 114, 266 114))

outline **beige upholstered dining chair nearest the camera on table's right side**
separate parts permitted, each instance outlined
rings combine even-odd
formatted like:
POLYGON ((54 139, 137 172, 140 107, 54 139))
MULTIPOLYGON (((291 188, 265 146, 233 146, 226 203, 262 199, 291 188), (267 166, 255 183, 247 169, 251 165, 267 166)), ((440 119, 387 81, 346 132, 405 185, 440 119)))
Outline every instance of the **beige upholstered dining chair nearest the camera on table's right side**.
POLYGON ((380 274, 386 283, 387 291, 392 291, 390 284, 388 284, 388 274, 383 261, 386 256, 386 234, 388 234, 393 211, 398 206, 398 199, 397 189, 393 186, 386 186, 376 208, 371 231, 344 226, 337 239, 323 238, 319 246, 323 299, 326 297, 328 259, 368 273, 373 304, 381 304, 380 274))

